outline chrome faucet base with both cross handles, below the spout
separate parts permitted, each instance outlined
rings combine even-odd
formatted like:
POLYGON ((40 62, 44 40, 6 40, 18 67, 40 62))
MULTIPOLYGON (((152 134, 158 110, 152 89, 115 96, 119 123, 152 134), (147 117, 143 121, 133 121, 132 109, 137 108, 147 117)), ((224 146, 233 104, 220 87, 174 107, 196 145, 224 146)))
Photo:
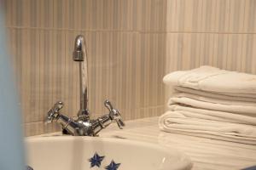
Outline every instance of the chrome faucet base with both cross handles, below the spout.
POLYGON ((97 134, 104 128, 108 127, 112 122, 116 122, 119 128, 125 126, 119 111, 114 109, 111 103, 106 100, 105 106, 109 113, 100 116, 97 119, 90 119, 89 112, 86 110, 78 117, 69 117, 60 113, 63 107, 62 102, 57 102, 53 108, 48 111, 47 122, 59 123, 62 127, 62 133, 71 134, 73 136, 97 136, 97 134))

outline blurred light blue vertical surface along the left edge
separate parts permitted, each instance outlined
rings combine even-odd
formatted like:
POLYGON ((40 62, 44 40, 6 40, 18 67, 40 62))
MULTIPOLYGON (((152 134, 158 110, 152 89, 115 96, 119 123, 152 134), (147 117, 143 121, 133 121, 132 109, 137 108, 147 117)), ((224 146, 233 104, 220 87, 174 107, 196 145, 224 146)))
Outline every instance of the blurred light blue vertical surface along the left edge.
POLYGON ((0 170, 22 170, 25 166, 21 111, 3 18, 0 8, 0 170))

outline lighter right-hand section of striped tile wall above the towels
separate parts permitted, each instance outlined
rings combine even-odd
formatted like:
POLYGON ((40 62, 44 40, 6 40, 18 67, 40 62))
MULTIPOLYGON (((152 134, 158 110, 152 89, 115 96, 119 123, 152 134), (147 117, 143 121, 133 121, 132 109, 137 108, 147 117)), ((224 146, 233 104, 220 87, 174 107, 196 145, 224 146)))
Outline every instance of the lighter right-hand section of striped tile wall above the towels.
POLYGON ((168 0, 166 73, 200 65, 256 74, 255 0, 168 0))

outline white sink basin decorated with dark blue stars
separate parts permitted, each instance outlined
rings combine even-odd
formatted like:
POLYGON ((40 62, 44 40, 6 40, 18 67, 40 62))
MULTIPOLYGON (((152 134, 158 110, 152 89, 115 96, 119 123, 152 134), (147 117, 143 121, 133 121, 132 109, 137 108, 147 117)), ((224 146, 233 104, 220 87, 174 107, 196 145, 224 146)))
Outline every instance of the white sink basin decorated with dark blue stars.
POLYGON ((190 169, 181 152, 157 144, 97 137, 26 139, 27 169, 33 170, 172 170, 190 169))

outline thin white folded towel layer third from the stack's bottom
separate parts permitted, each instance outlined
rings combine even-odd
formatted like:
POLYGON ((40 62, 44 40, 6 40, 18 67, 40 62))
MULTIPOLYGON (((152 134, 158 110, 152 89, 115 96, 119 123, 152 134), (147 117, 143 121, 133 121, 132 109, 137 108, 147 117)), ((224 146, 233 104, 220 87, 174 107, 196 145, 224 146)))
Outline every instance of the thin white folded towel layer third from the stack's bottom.
POLYGON ((191 99, 187 97, 173 97, 169 99, 168 105, 188 105, 205 110, 224 111, 256 117, 256 106, 251 105, 224 105, 218 103, 209 103, 206 101, 191 99))

